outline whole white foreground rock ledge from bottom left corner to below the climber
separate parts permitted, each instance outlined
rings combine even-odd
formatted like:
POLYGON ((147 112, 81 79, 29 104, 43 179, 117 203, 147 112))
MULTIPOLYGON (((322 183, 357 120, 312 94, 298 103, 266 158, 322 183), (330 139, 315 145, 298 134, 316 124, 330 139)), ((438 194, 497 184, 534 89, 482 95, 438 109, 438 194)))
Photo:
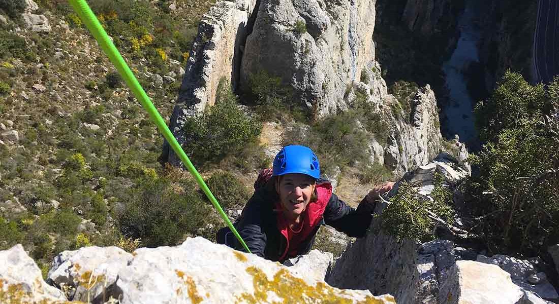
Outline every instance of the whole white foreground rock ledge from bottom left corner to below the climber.
MULTIPOLYGON (((91 303, 105 302, 102 296, 122 304, 396 303, 390 295, 328 286, 320 273, 330 261, 331 254, 312 252, 286 267, 198 237, 176 247, 140 248, 134 254, 115 247, 63 252, 49 279, 57 285, 67 282, 64 290, 70 297, 91 303), (324 266, 320 271, 312 269, 317 261, 324 266), (314 274, 307 274, 310 269, 314 274)), ((59 289, 42 281, 21 245, 1 251, 0 262, 0 302, 67 302, 59 289)))

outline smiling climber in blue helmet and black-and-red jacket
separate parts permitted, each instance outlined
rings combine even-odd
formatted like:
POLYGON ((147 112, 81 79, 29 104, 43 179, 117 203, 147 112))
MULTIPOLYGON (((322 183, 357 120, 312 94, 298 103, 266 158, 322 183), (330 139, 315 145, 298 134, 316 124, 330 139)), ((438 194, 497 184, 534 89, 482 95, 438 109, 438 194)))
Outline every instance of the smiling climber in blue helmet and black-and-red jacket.
MULTIPOLYGON (((260 172, 234 226, 250 252, 283 262, 308 253, 321 224, 364 237, 376 200, 393 186, 376 186, 353 209, 332 193, 330 182, 320 179, 319 160, 310 148, 286 146, 274 158, 273 169, 260 172)), ((217 243, 243 250, 228 227, 217 232, 217 243)))

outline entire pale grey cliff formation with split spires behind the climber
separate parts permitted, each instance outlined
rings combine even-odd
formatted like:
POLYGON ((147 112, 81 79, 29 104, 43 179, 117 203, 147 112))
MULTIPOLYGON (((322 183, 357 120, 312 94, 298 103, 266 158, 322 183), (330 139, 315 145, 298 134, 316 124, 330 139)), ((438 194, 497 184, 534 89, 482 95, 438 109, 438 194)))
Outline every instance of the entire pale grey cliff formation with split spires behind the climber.
MULTIPOLYGON (((364 115, 377 115, 376 119, 387 125, 387 131, 366 129, 375 134, 367 153, 372 162, 385 165, 395 173, 411 170, 439 153, 442 136, 433 90, 428 85, 413 86, 403 95, 396 90, 392 91, 399 94, 397 97, 390 95, 382 68, 375 61, 372 41, 375 1, 255 4, 257 7, 248 22, 243 18, 231 22, 230 16, 234 16, 231 13, 216 15, 224 8, 239 12, 229 2, 216 3, 202 19, 184 75, 183 91, 170 120, 179 143, 187 138, 184 120, 215 102, 220 79, 225 83, 230 81, 239 93, 246 93, 257 81, 255 75, 264 73, 278 79, 293 93, 285 99, 286 103, 306 108, 315 119, 347 111, 360 102, 371 105, 368 108, 371 113, 364 115), (208 20, 213 20, 211 26, 208 20), (246 44, 245 36, 239 36, 238 32, 233 35, 242 26, 243 33, 249 34, 246 44), (218 30, 228 35, 208 36, 209 32, 218 30), (230 52, 210 50, 214 40, 230 46, 230 52), (240 60, 239 69, 236 69, 237 60, 240 60)), ((162 161, 180 165, 167 145, 162 161)))

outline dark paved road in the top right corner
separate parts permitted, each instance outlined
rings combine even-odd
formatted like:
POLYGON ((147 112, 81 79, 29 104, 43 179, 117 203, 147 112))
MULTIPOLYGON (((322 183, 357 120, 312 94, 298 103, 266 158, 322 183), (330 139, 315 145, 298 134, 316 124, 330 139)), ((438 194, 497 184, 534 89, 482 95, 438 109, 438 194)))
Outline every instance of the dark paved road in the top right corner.
POLYGON ((538 21, 534 33, 534 70, 536 81, 550 83, 559 74, 559 3, 538 1, 538 21))

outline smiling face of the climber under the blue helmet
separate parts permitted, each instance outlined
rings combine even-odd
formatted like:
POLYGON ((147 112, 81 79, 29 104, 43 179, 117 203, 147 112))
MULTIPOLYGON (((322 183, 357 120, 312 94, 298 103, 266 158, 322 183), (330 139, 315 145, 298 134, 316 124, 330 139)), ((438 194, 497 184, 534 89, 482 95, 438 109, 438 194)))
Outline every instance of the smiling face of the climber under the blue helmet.
POLYGON ((278 178, 276 191, 288 218, 296 220, 305 211, 315 186, 315 179, 305 174, 290 173, 278 178))

